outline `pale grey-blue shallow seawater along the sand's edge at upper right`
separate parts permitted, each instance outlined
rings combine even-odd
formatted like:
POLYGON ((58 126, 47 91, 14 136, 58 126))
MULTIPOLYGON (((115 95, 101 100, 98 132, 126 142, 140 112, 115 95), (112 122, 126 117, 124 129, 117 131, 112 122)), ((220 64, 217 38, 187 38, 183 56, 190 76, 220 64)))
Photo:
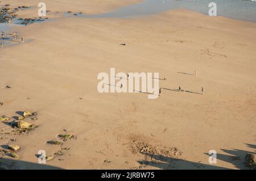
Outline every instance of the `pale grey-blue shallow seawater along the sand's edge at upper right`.
POLYGON ((151 15, 174 9, 189 9, 208 14, 210 2, 216 3, 218 16, 256 22, 256 3, 242 0, 145 0, 105 14, 78 14, 77 16, 84 18, 129 18, 130 16, 151 15))

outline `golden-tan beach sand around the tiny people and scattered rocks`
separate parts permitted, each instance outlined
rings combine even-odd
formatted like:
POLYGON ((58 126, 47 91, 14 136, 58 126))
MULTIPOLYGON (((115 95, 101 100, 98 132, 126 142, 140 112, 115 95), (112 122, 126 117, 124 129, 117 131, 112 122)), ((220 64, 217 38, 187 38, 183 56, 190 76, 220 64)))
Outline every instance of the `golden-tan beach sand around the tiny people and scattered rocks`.
MULTIPOLYGON (((90 13, 128 1, 102 2, 106 6, 101 1, 86 1, 88 6, 84 1, 47 1, 52 11, 82 7, 90 13), (63 7, 57 6, 60 2, 63 7)), ((0 145, 19 145, 19 161, 32 163, 38 161, 38 150, 53 154, 68 147, 47 162, 62 169, 245 169, 245 154, 256 145, 255 30, 256 23, 188 10, 126 19, 61 18, 13 27, 10 31, 19 31, 27 42, 1 49, 0 115, 36 111, 39 127, 15 135, 0 123, 0 145), (205 94, 163 90, 152 100, 142 93, 100 94, 97 75, 110 68, 159 72, 167 77, 160 87, 200 92, 203 86, 205 94), (196 76, 177 73, 195 70, 196 76), (61 146, 46 143, 58 140, 64 129, 77 138, 61 146), (159 158, 156 163, 155 157, 140 164, 144 155, 132 149, 138 142, 174 146, 182 154, 176 161, 159 158), (217 151, 217 164, 208 163, 209 150, 217 151)), ((5 159, 10 169, 39 167, 5 159)))

